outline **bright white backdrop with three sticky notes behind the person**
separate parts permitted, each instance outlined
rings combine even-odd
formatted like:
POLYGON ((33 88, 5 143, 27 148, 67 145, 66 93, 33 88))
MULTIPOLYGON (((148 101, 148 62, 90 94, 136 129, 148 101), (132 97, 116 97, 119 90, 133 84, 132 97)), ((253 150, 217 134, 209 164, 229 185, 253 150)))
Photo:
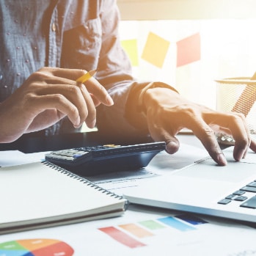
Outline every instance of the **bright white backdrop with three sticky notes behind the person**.
POLYGON ((117 0, 134 75, 216 109, 216 79, 256 71, 255 0, 117 0))

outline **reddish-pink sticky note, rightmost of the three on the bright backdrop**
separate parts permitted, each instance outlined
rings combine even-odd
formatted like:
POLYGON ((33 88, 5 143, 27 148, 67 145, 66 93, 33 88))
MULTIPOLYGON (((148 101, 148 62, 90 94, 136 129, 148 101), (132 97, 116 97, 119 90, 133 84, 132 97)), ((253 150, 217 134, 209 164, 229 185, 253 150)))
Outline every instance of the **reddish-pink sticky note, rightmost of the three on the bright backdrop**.
POLYGON ((200 33, 193 34, 177 42, 177 67, 201 59, 200 33))

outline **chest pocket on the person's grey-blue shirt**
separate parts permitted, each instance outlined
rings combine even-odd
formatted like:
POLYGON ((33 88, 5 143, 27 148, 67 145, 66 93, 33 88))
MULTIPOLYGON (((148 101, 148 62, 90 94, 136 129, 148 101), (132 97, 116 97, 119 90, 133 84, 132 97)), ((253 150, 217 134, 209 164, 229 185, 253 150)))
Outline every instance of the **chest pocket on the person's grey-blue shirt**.
POLYGON ((85 21, 63 34, 62 67, 92 70, 98 66, 102 44, 100 18, 85 21))

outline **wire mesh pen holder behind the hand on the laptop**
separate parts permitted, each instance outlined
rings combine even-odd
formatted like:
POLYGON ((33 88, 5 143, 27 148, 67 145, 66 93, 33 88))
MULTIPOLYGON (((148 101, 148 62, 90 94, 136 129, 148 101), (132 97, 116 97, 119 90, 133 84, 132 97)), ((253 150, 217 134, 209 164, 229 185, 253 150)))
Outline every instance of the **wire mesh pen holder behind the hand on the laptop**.
MULTIPOLYGON (((248 77, 224 78, 217 83, 217 110, 244 114, 250 134, 256 134, 256 80, 248 77)), ((233 145, 234 140, 225 134, 216 134, 222 144, 233 145)))

